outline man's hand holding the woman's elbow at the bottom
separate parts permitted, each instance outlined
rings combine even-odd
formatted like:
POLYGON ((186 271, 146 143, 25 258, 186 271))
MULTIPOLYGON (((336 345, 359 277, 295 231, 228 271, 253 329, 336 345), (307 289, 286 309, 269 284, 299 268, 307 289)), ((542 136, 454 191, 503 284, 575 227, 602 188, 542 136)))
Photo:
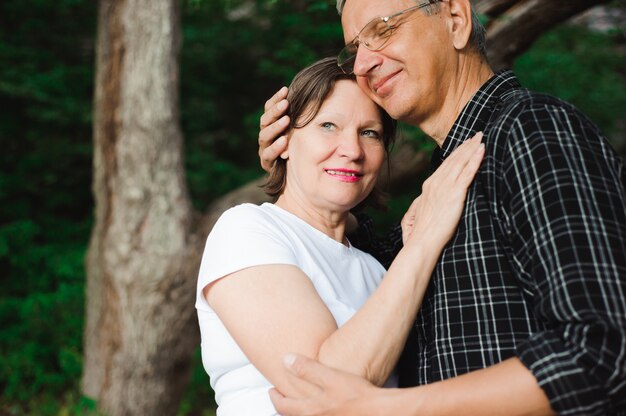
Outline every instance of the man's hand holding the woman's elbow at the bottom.
POLYGON ((315 393, 301 398, 283 396, 270 390, 270 398, 278 413, 284 416, 367 416, 376 414, 367 399, 382 391, 364 379, 333 370, 301 355, 289 354, 285 366, 300 380, 317 387, 315 393))

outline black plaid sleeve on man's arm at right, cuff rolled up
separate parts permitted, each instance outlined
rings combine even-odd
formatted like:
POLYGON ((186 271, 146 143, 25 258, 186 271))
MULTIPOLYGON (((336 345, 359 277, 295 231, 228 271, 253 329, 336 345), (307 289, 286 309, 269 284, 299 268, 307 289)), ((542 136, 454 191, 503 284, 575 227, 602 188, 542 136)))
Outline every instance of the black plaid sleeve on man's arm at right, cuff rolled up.
POLYGON ((498 215, 543 330, 517 348, 559 414, 626 409, 622 162, 575 109, 533 105, 501 126, 498 215))

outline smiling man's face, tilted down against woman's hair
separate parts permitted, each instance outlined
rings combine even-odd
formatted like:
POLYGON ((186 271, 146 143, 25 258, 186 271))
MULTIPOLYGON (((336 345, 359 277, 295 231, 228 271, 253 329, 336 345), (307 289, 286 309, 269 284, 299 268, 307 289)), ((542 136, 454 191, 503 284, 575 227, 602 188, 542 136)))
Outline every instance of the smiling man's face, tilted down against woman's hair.
MULTIPOLYGON (((344 40, 351 42, 377 17, 415 6, 411 0, 348 0, 342 13, 344 40)), ((419 125, 441 110, 455 71, 456 50, 450 39, 446 3, 442 13, 423 10, 399 18, 387 44, 378 51, 359 46, 354 73, 363 91, 394 118, 419 125)))

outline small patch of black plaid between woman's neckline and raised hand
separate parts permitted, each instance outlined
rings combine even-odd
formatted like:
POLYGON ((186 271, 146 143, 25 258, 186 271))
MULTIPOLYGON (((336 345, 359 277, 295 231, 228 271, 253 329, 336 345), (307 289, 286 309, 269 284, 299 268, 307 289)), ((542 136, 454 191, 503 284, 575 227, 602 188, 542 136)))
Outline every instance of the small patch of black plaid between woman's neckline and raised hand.
POLYGON ((388 269, 393 259, 402 249, 402 228, 400 224, 392 227, 384 236, 376 235, 374 223, 367 214, 355 214, 359 227, 348 235, 350 244, 361 251, 371 254, 388 269))

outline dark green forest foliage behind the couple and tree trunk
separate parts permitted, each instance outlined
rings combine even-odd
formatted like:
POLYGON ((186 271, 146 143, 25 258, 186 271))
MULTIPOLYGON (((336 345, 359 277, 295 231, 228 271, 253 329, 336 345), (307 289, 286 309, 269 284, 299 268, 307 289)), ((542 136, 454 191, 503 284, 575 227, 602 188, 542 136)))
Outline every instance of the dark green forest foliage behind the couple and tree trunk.
MULTIPOLYGON (((262 175, 264 101, 343 42, 334 1, 249 4, 180 2, 180 125, 197 210, 262 175)), ((623 17, 624 2, 608 10, 623 17)), ((582 109, 624 157, 626 27, 623 18, 597 23, 550 30, 514 69, 526 87, 582 109)), ((96 414, 80 392, 96 25, 91 0, 0 4, 0 415, 96 414)), ((432 149, 419 131, 402 131, 416 150, 432 149)), ((390 189, 390 211, 373 213, 381 229, 399 218, 425 174, 390 189)), ((212 414, 197 352, 191 368, 178 414, 212 414)))

